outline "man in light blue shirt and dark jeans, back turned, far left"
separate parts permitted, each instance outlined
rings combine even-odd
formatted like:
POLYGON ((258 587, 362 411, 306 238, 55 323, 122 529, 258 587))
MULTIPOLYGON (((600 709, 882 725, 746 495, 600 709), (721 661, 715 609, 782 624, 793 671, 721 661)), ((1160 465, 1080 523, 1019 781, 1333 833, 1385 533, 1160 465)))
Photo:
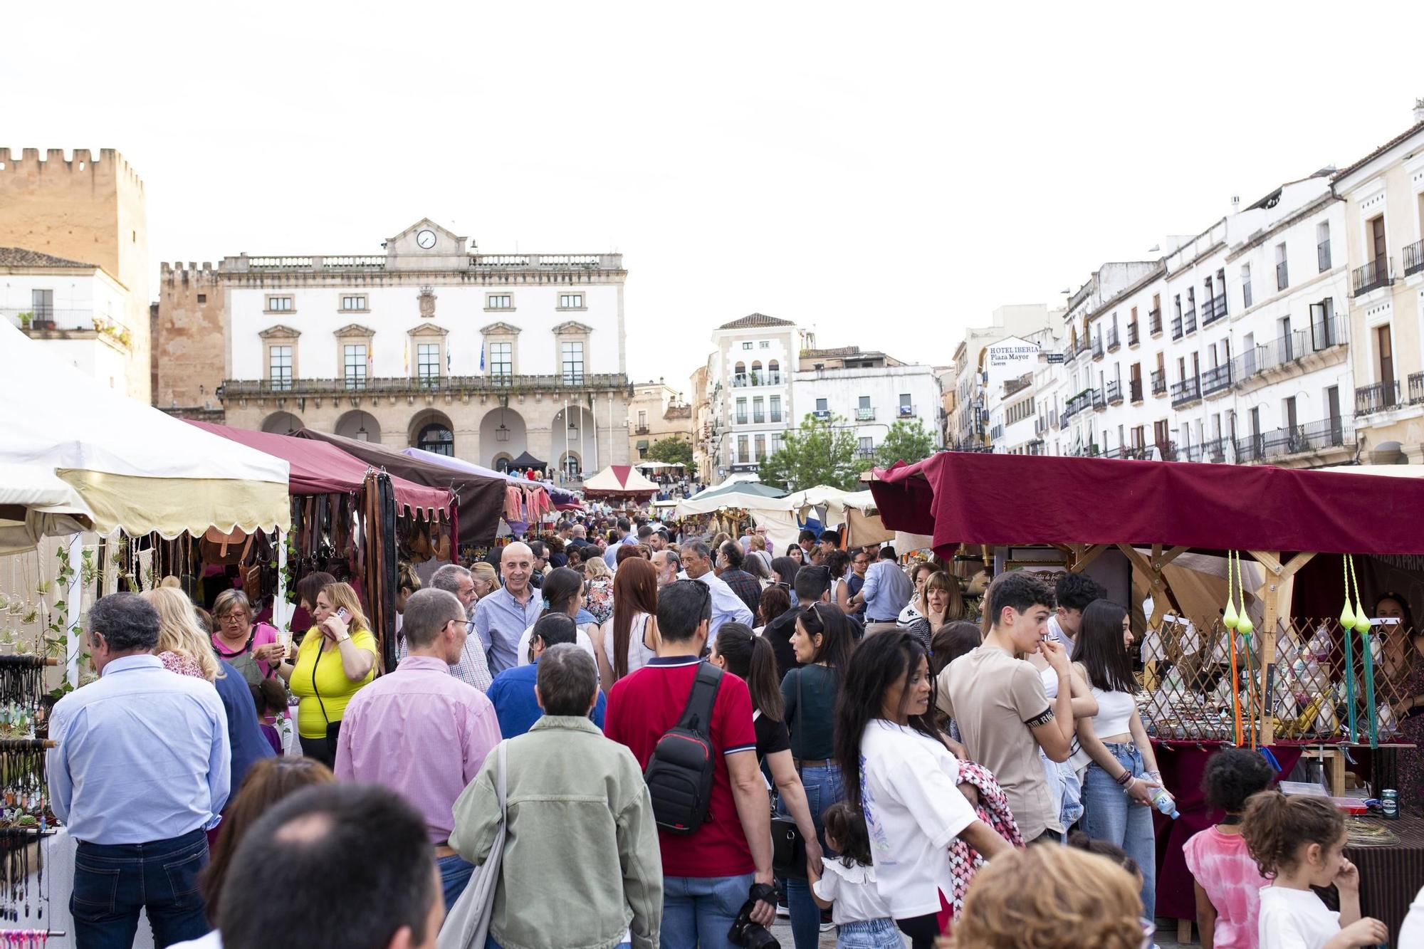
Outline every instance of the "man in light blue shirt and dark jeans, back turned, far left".
POLYGON ((78 841, 75 942, 131 946, 140 909, 157 945, 197 939, 209 929, 197 878, 231 775, 222 700, 152 654, 158 611, 141 597, 103 597, 87 626, 100 678, 56 702, 46 758, 50 807, 78 841))

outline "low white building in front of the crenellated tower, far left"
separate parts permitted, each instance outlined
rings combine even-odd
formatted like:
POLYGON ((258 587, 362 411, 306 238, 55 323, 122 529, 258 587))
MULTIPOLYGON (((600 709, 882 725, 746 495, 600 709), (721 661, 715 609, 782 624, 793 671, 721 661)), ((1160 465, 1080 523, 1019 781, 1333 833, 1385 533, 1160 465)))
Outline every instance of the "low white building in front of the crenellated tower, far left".
POLYGON ((0 316, 46 352, 115 392, 147 390, 132 361, 128 292, 103 268, 24 248, 0 248, 0 316), (142 383, 142 385, 138 385, 142 383))

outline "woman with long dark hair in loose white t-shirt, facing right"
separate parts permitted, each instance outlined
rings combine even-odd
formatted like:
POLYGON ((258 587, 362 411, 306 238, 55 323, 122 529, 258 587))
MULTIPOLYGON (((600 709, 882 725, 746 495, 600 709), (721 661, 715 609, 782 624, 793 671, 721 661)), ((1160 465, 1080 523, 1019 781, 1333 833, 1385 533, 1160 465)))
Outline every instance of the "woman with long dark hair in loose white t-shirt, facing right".
POLYGON ((930 691, 924 647, 903 630, 877 633, 856 647, 836 710, 846 797, 864 814, 879 892, 914 949, 930 949, 948 919, 950 841, 990 859, 1011 849, 958 791, 930 691))

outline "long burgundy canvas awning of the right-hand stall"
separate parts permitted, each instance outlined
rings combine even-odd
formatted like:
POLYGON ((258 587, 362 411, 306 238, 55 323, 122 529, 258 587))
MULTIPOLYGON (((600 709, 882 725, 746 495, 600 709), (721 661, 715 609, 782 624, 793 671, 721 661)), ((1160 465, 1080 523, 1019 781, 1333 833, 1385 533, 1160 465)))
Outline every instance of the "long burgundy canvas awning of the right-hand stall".
POLYGON ((891 530, 970 544, 1424 553, 1424 479, 1252 465, 938 452, 877 470, 891 530))

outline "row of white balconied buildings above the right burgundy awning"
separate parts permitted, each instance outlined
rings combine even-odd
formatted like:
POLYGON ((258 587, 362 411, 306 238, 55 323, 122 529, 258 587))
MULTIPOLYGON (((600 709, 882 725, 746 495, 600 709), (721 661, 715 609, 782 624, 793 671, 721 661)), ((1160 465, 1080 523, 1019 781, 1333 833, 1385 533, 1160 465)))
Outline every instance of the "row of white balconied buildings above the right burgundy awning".
POLYGON ((1104 265, 1069 301, 1048 450, 1351 460, 1341 227, 1320 174, 1169 239, 1159 261, 1104 265))

